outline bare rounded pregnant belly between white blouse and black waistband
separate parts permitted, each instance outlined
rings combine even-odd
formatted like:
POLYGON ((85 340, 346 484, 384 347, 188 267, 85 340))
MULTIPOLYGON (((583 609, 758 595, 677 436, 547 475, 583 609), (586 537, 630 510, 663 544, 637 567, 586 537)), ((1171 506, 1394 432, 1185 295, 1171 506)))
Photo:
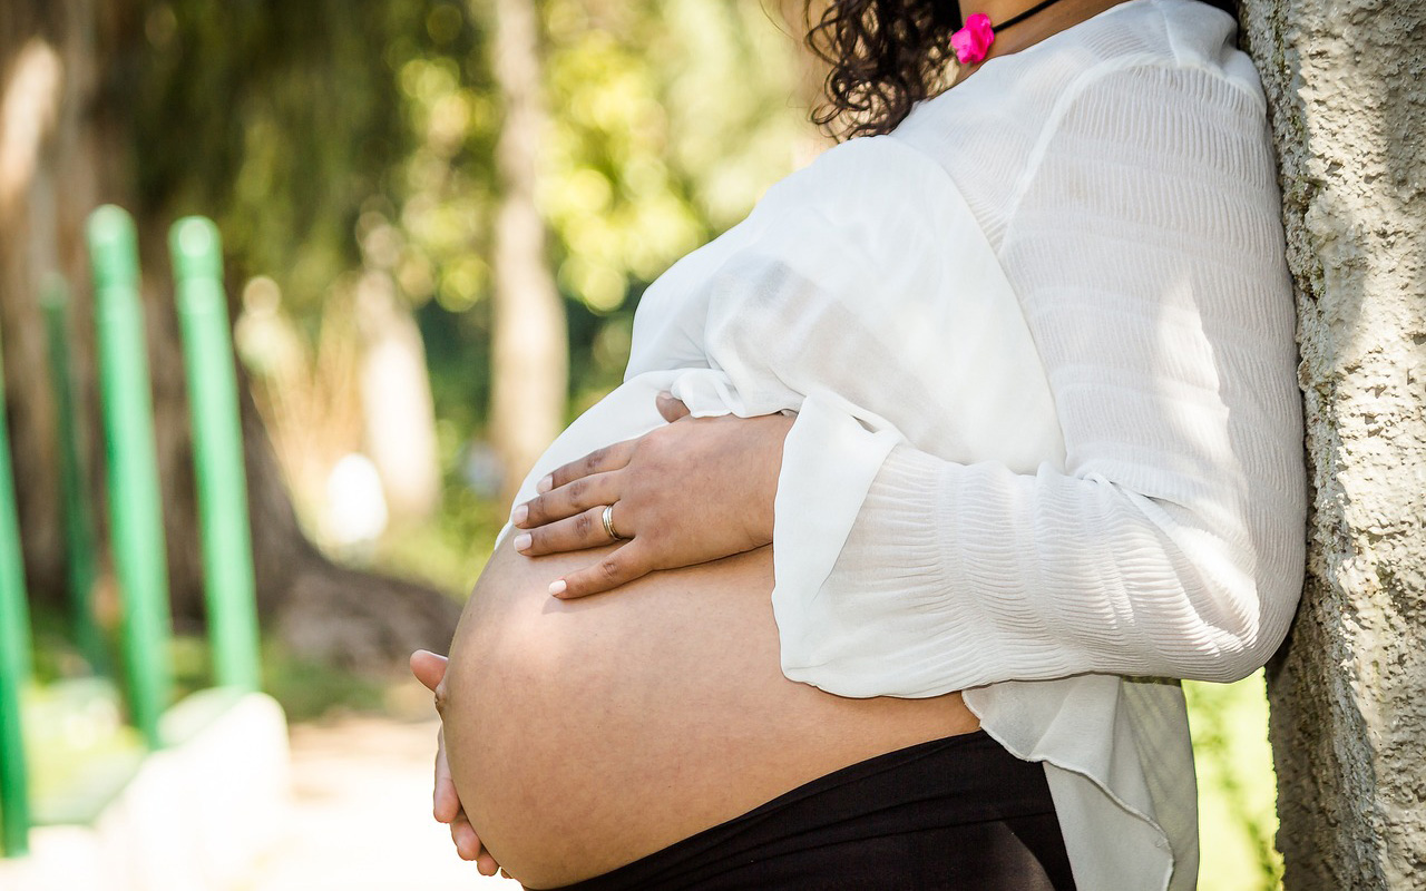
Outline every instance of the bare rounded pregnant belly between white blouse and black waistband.
POLYGON ((502 545, 451 650, 456 788, 526 885, 606 872, 840 767, 977 727, 960 694, 853 700, 783 677, 771 549, 549 596, 599 553, 502 545))

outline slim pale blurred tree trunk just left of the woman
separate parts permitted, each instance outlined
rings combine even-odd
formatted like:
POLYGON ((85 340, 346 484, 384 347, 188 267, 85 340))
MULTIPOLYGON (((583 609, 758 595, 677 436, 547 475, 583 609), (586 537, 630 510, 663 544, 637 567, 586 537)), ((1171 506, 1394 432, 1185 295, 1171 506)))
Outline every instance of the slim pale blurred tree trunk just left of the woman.
MULTIPOLYGON (((472 7, 479 16, 479 4, 472 7)), ((501 208, 495 230, 491 439, 509 502, 559 433, 569 388, 565 308, 549 271, 535 205, 536 155, 546 130, 535 0, 495 0, 495 77, 505 123, 495 148, 501 208)))

